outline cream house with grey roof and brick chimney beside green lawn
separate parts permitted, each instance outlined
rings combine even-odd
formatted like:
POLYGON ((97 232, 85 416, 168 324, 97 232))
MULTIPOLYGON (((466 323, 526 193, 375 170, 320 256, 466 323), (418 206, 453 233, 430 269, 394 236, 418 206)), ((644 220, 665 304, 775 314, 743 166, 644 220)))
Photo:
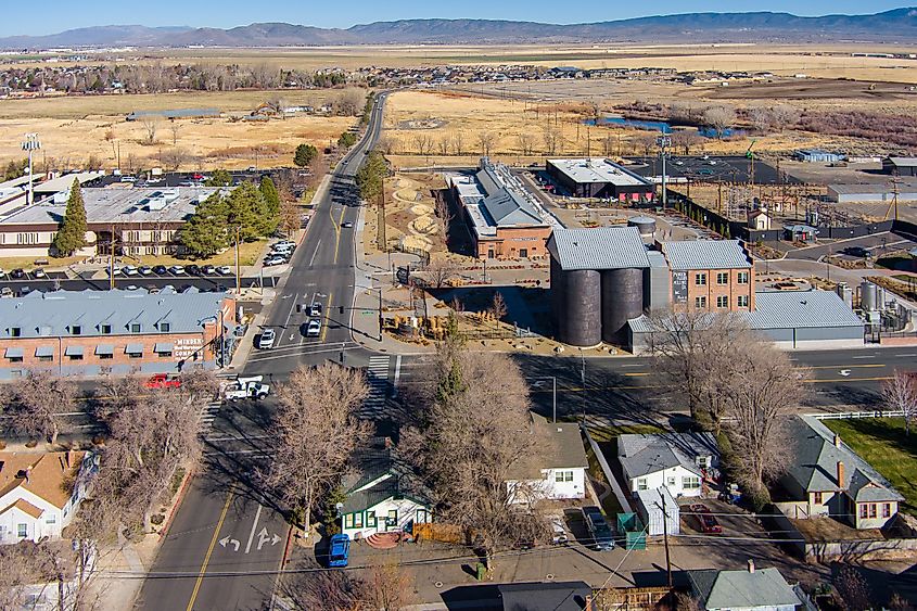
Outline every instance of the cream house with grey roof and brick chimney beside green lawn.
POLYGON ((789 518, 830 518, 857 530, 881 529, 904 497, 820 420, 798 416, 789 424, 789 464, 781 480, 792 501, 789 518))

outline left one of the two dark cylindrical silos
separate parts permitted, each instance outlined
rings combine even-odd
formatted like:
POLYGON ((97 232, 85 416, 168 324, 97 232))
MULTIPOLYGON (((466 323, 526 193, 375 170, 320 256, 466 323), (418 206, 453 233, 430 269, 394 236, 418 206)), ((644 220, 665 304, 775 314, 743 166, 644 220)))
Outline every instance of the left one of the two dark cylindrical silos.
POLYGON ((559 339, 572 346, 602 342, 601 275, 594 269, 563 273, 563 309, 558 314, 559 339))

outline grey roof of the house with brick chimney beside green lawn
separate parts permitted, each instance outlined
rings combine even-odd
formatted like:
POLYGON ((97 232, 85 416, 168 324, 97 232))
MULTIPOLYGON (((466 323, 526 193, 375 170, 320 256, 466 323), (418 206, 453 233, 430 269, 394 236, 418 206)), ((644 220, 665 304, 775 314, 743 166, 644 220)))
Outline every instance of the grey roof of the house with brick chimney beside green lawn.
POLYGON ((787 475, 805 492, 837 492, 838 462, 844 463, 844 489, 856 501, 904 500, 904 497, 830 429, 811 416, 792 418, 791 460, 787 475))

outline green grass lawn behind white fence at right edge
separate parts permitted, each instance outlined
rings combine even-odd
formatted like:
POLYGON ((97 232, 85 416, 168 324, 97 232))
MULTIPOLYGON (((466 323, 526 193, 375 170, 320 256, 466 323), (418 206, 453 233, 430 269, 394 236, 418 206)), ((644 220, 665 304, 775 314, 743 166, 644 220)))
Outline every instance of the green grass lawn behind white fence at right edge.
POLYGON ((906 436, 903 418, 823 422, 904 495, 902 511, 917 515, 917 430, 906 436))

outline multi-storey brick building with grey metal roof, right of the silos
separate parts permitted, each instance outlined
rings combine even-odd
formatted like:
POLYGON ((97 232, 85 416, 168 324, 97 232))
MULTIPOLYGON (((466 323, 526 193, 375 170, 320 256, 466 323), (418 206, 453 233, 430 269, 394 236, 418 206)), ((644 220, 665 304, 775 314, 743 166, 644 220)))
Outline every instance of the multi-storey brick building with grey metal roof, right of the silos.
POLYGON ((754 310, 754 262, 739 240, 659 242, 672 272, 672 306, 754 310))

